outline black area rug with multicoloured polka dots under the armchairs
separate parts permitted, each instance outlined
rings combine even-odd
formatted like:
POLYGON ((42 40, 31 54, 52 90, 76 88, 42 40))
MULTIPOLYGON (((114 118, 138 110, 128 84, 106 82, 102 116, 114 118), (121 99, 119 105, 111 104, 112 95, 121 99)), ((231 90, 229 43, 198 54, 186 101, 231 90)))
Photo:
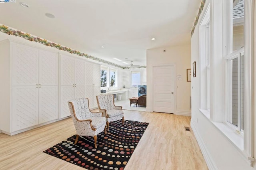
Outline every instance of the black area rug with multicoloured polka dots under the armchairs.
POLYGON ((76 134, 44 152, 89 170, 123 170, 149 123, 122 120, 110 122, 107 134, 94 138, 76 134))

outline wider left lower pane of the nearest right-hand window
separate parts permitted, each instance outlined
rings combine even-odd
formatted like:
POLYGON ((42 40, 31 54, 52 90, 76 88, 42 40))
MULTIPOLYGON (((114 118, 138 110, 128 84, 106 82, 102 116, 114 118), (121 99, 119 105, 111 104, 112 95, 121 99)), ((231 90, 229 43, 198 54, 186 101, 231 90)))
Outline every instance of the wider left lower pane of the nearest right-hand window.
POLYGON ((231 61, 232 70, 231 70, 231 86, 232 86, 232 100, 231 100, 231 109, 232 114, 230 115, 232 118, 230 119, 233 125, 238 126, 238 58, 235 58, 231 61))

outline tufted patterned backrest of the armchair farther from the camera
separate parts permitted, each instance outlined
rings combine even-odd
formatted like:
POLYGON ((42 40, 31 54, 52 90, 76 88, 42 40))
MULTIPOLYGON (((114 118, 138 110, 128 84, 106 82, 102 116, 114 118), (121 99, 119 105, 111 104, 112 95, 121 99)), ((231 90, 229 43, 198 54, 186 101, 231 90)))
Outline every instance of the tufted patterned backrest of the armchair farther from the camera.
POLYGON ((110 110, 114 108, 114 95, 98 95, 97 103, 100 109, 110 110))

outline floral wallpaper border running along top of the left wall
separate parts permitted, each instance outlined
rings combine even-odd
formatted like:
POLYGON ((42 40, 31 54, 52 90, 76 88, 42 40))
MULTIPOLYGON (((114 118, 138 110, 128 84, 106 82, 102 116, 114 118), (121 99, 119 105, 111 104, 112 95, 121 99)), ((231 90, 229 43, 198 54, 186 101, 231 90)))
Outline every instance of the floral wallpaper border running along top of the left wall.
MULTIPOLYGON (((130 67, 124 67, 122 65, 118 65, 118 64, 112 63, 110 61, 106 61, 104 59, 100 59, 98 57, 94 57, 92 55, 88 55, 86 53, 82 53, 80 51, 77 51, 77 50, 74 50, 74 49, 62 46, 62 45, 54 43, 54 42, 50 42, 48 40, 44 40, 44 39, 39 38, 39 37, 32 36, 32 35, 30 35, 28 33, 24 33, 24 32, 18 31, 18 30, 14 30, 14 29, 9 28, 9 27, 4 26, 4 25, 0 26, 0 31, 3 32, 3 33, 6 33, 8 35, 18 36, 18 37, 24 38, 26 40, 29 40, 31 42, 42 43, 42 44, 44 44, 44 45, 46 45, 48 47, 54 47, 54 48, 57 48, 57 49, 62 50, 62 51, 67 51, 69 53, 76 54, 76 55, 79 55, 81 57, 86 57, 87 59, 92 59, 94 61, 98 61, 98 62, 101 62, 101 63, 104 63, 104 64, 112 65, 114 67, 119 67, 121 69, 129 69, 130 68, 130 67)), ((140 66, 138 68, 146 68, 146 66, 142 65, 142 66, 140 66)))

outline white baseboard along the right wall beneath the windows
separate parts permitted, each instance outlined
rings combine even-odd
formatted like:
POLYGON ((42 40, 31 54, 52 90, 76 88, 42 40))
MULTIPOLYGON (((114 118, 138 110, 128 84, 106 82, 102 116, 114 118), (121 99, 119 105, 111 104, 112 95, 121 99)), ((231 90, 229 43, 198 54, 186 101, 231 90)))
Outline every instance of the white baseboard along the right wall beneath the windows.
POLYGON ((196 130, 196 126, 194 124, 194 122, 191 120, 190 126, 194 132, 194 135, 196 137, 196 140, 198 142, 198 145, 201 149, 201 152, 204 156, 204 160, 208 166, 209 170, 218 170, 218 167, 216 166, 214 160, 212 159, 212 156, 210 155, 210 152, 208 151, 206 145, 204 144, 204 141, 202 140, 200 134, 198 133, 198 131, 196 130))

